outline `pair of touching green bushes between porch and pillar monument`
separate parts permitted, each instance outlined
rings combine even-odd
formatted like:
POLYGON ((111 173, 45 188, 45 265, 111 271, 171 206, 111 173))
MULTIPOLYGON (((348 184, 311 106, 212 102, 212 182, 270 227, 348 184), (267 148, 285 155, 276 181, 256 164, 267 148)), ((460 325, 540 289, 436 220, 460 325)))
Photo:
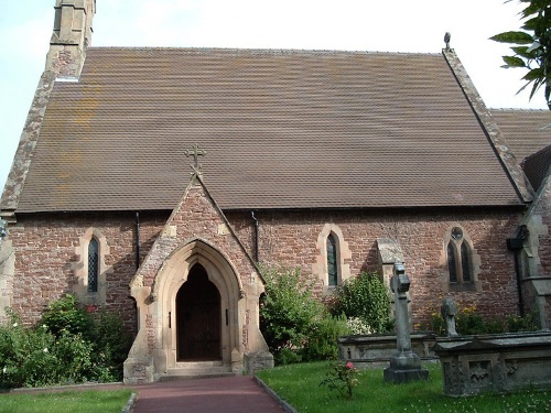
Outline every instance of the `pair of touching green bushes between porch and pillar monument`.
POLYGON ((390 301, 377 274, 350 279, 322 303, 296 269, 263 267, 260 327, 277 365, 335 360, 337 338, 391 328, 390 301))

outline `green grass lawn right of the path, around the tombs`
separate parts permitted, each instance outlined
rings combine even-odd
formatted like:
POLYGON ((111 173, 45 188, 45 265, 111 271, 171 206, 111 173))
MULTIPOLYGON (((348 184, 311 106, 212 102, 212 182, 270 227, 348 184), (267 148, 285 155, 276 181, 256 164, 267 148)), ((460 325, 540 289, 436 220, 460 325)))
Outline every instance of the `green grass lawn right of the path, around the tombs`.
POLYGON ((507 395, 449 398, 442 392, 440 365, 429 363, 429 380, 386 383, 382 369, 360 370, 353 400, 320 387, 331 362, 290 365, 262 370, 257 376, 300 413, 355 412, 551 412, 551 389, 507 395))

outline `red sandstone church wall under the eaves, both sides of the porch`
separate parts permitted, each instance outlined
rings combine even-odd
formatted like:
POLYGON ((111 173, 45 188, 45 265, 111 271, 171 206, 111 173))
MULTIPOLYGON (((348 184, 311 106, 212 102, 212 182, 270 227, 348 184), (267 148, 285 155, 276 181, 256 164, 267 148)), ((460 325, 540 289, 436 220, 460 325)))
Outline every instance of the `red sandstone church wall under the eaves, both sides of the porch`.
MULTIPOLYGON (((169 217, 166 214, 140 216, 140 256, 143 260, 154 238, 169 217)), ((316 241, 326 222, 337 225, 353 252, 352 274, 376 271, 376 239, 396 238, 402 246, 407 273, 411 279, 414 324, 426 323, 431 313, 439 312, 443 297, 439 260, 445 230, 460 224, 480 256, 480 292, 451 293, 463 305, 475 305, 486 315, 518 314, 518 297, 512 253, 506 239, 515 233, 518 219, 505 213, 487 214, 408 214, 397 220, 392 214, 332 213, 257 213, 260 222, 260 261, 301 267, 305 276, 312 275, 312 264, 318 251, 316 241)), ((241 242, 253 256, 253 221, 249 214, 228 213, 241 242)), ((136 273, 134 214, 105 214, 47 218, 19 217, 10 227, 15 248, 13 308, 32 322, 52 300, 72 291, 75 282, 72 264, 79 237, 89 228, 98 228, 110 247, 108 265, 108 307, 123 315, 129 328, 136 330, 134 303, 128 284, 136 273), (69 224, 71 222, 71 224, 69 224)))

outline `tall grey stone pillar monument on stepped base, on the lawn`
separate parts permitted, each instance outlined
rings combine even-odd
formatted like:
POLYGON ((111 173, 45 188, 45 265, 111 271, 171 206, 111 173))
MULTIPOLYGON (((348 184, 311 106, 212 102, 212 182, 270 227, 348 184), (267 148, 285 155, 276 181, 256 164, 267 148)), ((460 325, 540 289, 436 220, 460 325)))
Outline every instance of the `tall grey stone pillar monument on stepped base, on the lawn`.
POLYGON ((385 369, 385 381, 406 383, 426 380, 429 370, 421 369, 421 359, 411 350, 409 328, 408 295, 410 280, 402 263, 395 264, 395 274, 390 280, 395 293, 396 341, 398 351, 390 357, 390 367, 385 369))

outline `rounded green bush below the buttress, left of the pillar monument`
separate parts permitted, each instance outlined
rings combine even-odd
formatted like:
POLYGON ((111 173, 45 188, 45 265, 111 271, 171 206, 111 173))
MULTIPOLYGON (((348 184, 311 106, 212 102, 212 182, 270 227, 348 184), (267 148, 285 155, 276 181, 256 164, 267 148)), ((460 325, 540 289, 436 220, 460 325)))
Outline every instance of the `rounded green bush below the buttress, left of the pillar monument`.
POLYGON ((390 297, 377 274, 361 273, 337 287, 332 314, 360 318, 372 333, 391 329, 390 297))

